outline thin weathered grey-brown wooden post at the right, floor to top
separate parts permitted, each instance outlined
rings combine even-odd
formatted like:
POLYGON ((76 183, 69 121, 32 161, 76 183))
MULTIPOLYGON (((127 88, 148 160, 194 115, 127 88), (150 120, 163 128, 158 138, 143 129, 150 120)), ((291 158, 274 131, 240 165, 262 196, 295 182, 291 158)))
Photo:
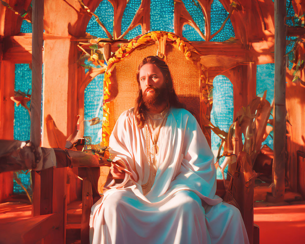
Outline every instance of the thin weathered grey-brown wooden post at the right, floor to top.
POLYGON ((286 15, 286 2, 274 1, 274 159, 272 166, 272 196, 283 198, 285 194, 285 134, 286 134, 286 28, 284 19, 286 15))

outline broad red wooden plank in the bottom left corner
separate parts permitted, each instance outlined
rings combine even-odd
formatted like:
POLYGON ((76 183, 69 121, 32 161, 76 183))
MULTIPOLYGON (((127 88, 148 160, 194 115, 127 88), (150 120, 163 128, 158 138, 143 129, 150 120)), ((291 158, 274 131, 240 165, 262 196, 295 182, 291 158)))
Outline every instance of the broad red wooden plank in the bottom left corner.
POLYGON ((40 215, 16 221, 0 223, 1 244, 33 244, 44 238, 60 225, 58 213, 40 215))

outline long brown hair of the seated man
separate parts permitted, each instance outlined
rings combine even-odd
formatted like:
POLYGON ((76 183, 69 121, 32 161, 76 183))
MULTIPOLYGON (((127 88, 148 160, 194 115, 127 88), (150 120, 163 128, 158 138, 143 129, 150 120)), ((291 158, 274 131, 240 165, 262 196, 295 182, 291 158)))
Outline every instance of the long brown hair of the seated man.
POLYGON ((134 115, 135 115, 135 119, 136 119, 136 123, 138 125, 138 127, 142 128, 145 124, 145 105, 143 102, 143 97, 142 97, 142 90, 141 90, 141 86, 140 86, 140 78, 139 78, 139 72, 140 69, 142 68, 142 66, 146 63, 152 63, 154 65, 156 65, 161 73, 163 74, 163 78, 168 90, 168 103, 170 106, 173 107, 183 107, 183 105, 178 101, 178 97, 175 93, 174 87, 173 87, 173 80, 170 76, 170 70, 168 69, 167 64, 159 59, 156 56, 148 56, 146 58, 143 59, 143 61, 139 64, 138 67, 138 71, 137 71, 137 81, 138 81, 138 85, 139 85, 139 90, 138 90, 138 97, 135 101, 135 108, 134 108, 134 115))

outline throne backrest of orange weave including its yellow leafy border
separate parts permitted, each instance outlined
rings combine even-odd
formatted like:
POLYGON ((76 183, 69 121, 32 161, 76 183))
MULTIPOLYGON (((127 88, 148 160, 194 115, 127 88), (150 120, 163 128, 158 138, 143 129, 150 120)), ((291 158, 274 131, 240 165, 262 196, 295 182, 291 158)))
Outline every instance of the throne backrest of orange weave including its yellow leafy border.
MULTIPOLYGON (((167 35, 166 32, 161 32, 161 34, 167 35)), ((167 38, 167 36, 165 38, 167 38)), ((135 41, 131 41, 131 43, 135 43, 135 41)), ((186 42, 184 41, 183 43, 186 42)), ((202 84, 200 66, 196 66, 196 62, 193 62, 192 59, 186 58, 187 55, 185 54, 188 51, 186 44, 184 44, 184 48, 181 48, 181 45, 180 47, 177 47, 177 41, 167 41, 165 44, 163 41, 162 44, 163 48, 158 40, 147 41, 147 44, 141 43, 141 45, 135 47, 132 52, 128 53, 124 58, 120 56, 122 56, 122 53, 124 53, 126 49, 124 50, 123 48, 122 50, 121 48, 120 52, 116 52, 112 57, 113 59, 109 59, 110 63, 113 62, 113 60, 114 62, 113 65, 110 64, 111 68, 109 67, 108 73, 106 71, 104 80, 104 89, 106 89, 106 91, 109 90, 111 93, 111 99, 107 100, 107 97, 105 97, 106 101, 104 103, 103 127, 106 128, 105 130, 103 129, 103 139, 105 137, 104 145, 107 145, 107 143, 105 143, 107 134, 110 134, 113 130, 120 114, 135 106, 135 99, 139 89, 136 80, 136 72, 138 65, 147 56, 155 56, 157 54, 159 54, 159 56, 165 56, 164 60, 169 66, 179 102, 185 105, 186 109, 196 117, 200 124, 200 86, 202 84), (161 49, 163 49, 163 53, 160 52, 161 49), (107 78, 109 78, 108 82, 107 78), (109 114, 107 114, 108 112, 109 114)), ((187 42, 187 44, 191 47, 189 42, 187 42)), ((125 46, 127 47, 128 44, 125 46)))

